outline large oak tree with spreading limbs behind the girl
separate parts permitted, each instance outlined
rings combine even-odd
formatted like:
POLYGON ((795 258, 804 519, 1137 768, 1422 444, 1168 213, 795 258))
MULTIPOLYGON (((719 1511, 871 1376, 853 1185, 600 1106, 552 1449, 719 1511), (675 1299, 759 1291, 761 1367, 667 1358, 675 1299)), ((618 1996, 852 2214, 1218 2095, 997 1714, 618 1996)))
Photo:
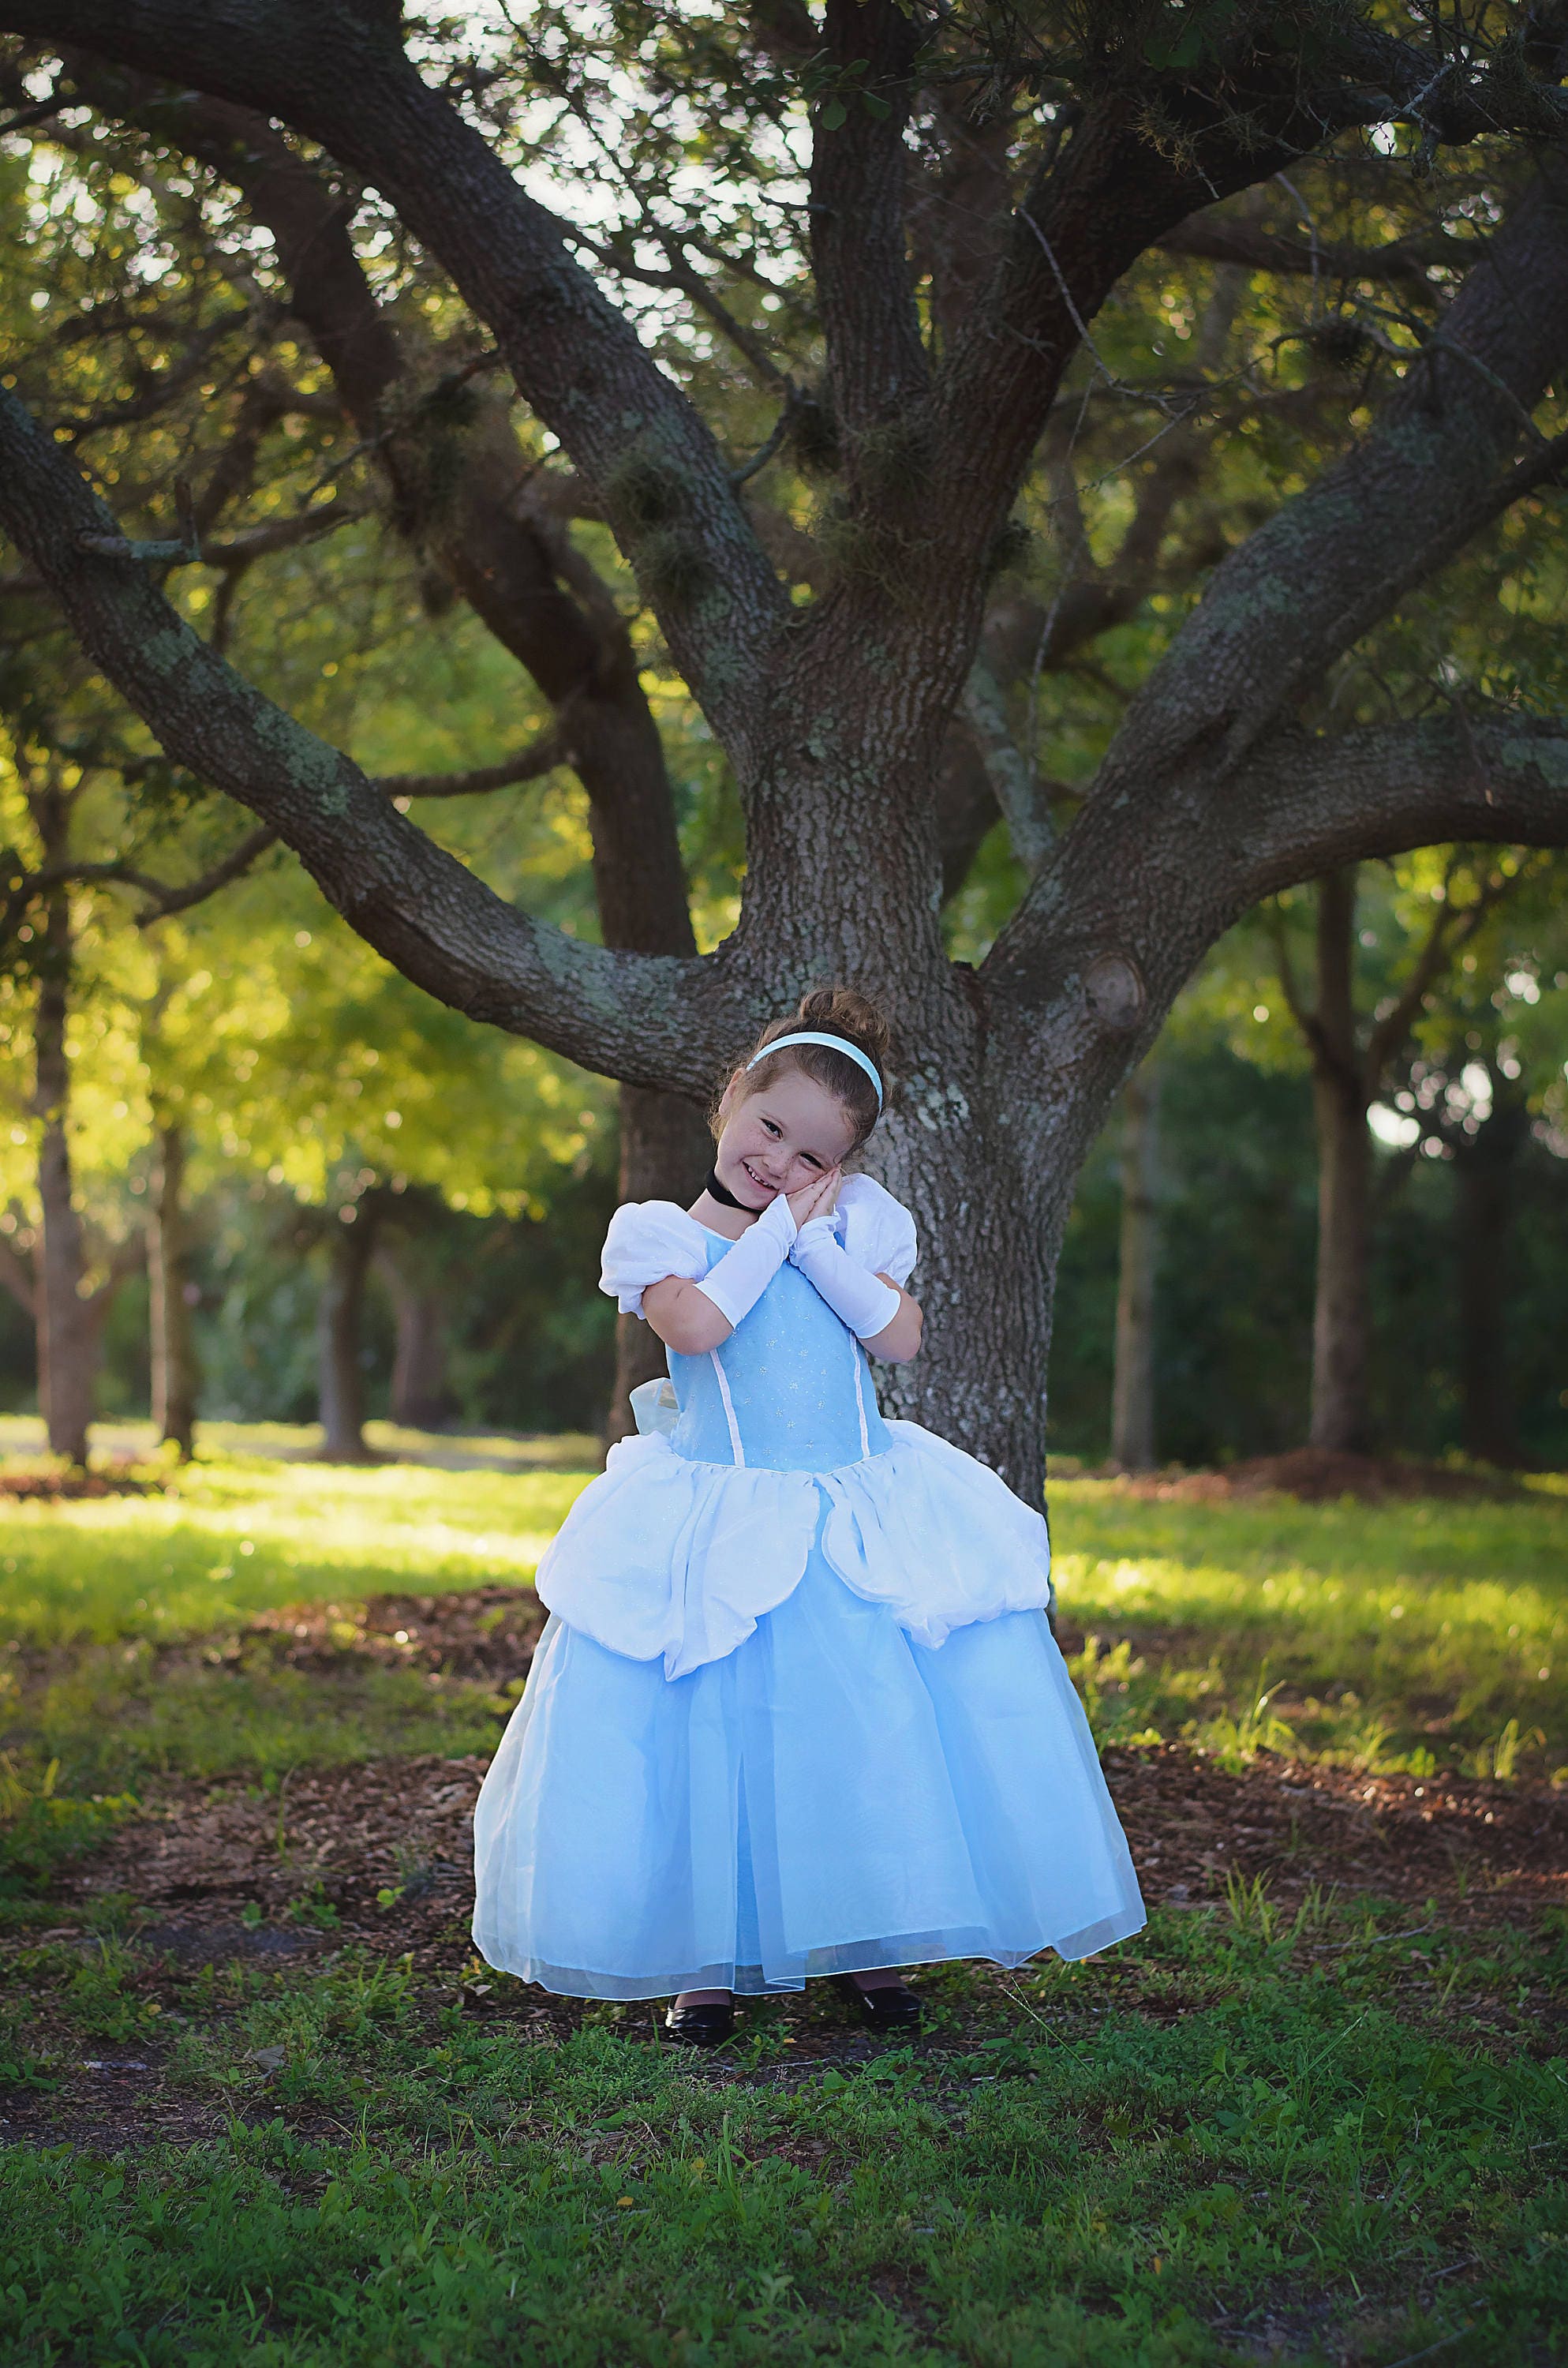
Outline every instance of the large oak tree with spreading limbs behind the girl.
MULTIPOLYGON (((102 99, 126 118, 156 104, 147 78, 175 107, 199 92, 206 130, 180 137, 237 182, 251 170, 263 220, 258 182, 272 173, 277 199, 296 149, 324 152, 450 275, 568 462, 561 502, 609 521, 730 758, 748 869, 739 926, 715 952, 668 938, 592 947, 497 897, 192 630, 14 393, 0 398, 0 519, 171 758, 251 807, 372 945, 474 1018, 701 1101, 803 983, 848 976, 881 995, 900 1092, 874 1156, 921 1220, 931 1317, 928 1354, 891 1378, 891 1397, 1037 1492, 1073 1179, 1206 947, 1272 890, 1357 857, 1457 838, 1568 843, 1556 718, 1454 699, 1409 720, 1352 708, 1345 722, 1319 699, 1345 651, 1549 483, 1568 450, 1549 412, 1568 360, 1563 33, 1537 9, 1499 17, 1490 43, 1447 19, 1414 40, 1405 12, 1329 0, 1222 12, 772 0, 739 31, 703 19, 694 62, 685 14, 628 12, 628 54, 654 59, 670 104, 703 73, 727 88, 746 69, 758 152, 772 126, 770 154, 789 159, 784 135, 810 118, 801 211, 824 379, 775 372, 779 426, 758 455, 810 445, 831 474, 808 556, 782 549, 751 500, 753 466, 732 464, 699 388, 661 367, 609 296, 640 275, 725 313, 692 263, 701 220, 687 239, 666 230, 656 270, 647 237, 628 251, 599 218, 547 211, 486 114, 500 66, 467 62, 450 31, 405 38, 374 0, 0 0, 0 31, 69 43, 62 76, 83 90, 107 64, 133 76, 102 99), (261 166, 201 147, 213 109, 263 118, 261 166), (1009 746, 990 663, 1009 519, 1061 438, 1063 381, 1087 372, 1078 412, 1099 379, 1118 393, 1092 324, 1156 244, 1305 270, 1315 289, 1341 270, 1317 230, 1270 253, 1279 239, 1227 199, 1369 128, 1367 170, 1471 144, 1495 159, 1473 175, 1473 237, 1438 239, 1447 275, 1424 282, 1426 310, 1400 313, 1393 339, 1369 308, 1371 334, 1395 346, 1383 400, 1213 568, 1063 829, 1033 741, 1009 746), (945 857, 952 876, 962 838, 955 720, 1030 867, 978 969, 947 957, 940 928, 945 857)), ((542 31, 523 64, 573 102, 571 12, 542 31)), ((744 275, 727 218, 706 244, 744 275)), ((291 265, 301 310, 308 260, 301 249, 291 265)), ((1402 242, 1367 270, 1397 279, 1431 260, 1402 242)), ((324 322, 322 350, 329 334, 324 322)), ((775 367, 756 322, 725 313, 725 334, 756 348, 763 374, 775 367)), ((1348 343, 1364 336, 1362 315, 1345 315, 1348 343)), ((353 410, 351 362, 334 369, 353 410)), ((384 367, 396 374, 396 358, 384 367)), ((481 509, 469 533, 483 526, 481 509)), ((448 535, 443 564, 483 613, 474 540, 448 535)), ((1116 613, 1116 587, 1063 578, 1033 625, 1035 663, 1078 611, 1092 630, 1116 613)), ((519 656, 545 680, 545 654, 519 656)), ((606 812, 613 748, 632 751, 637 729, 630 699, 606 715, 606 812)), ((640 826, 656 774, 644 767, 640 826)), ((630 781, 628 753, 628 793, 630 781)))

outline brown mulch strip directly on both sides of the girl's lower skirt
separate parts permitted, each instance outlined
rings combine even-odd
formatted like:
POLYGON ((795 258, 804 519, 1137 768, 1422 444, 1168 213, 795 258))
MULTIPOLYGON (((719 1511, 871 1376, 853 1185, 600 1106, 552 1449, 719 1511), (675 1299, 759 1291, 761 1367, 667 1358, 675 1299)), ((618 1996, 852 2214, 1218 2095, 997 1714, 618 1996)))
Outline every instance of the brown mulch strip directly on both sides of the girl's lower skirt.
MULTIPOLYGON (((308 1956, 343 1939, 436 1961, 471 1909, 483 1767, 379 1759, 301 1771, 279 1793, 175 1785, 59 1897, 130 1892, 154 1913, 142 1937, 182 1963, 308 1956)), ((1182 1745, 1111 1750, 1106 1776, 1151 1906, 1203 1906, 1232 1875, 1267 1878, 1281 1906, 1312 1885, 1435 1899, 1466 1920, 1568 1904, 1561 1788, 1357 1776, 1267 1752, 1227 1774, 1182 1745)))

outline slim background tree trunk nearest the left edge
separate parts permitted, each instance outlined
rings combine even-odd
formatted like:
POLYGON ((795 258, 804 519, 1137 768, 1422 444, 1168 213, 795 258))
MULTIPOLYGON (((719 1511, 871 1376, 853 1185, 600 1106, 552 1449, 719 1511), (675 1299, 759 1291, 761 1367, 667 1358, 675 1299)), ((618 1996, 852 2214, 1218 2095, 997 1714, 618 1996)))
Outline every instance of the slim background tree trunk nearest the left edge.
MULTIPOLYGON (((47 845, 45 838, 45 855, 59 860, 62 848, 64 810, 59 848, 47 845)), ((36 1291, 38 1404, 50 1452, 71 1463, 85 1463, 104 1307, 85 1293, 88 1260, 71 1189, 71 1063, 66 1058, 71 952, 71 907, 64 890, 57 890, 50 897, 43 931, 36 1014, 33 1108, 43 1120, 38 1146, 38 1203, 43 1208, 36 1291)))

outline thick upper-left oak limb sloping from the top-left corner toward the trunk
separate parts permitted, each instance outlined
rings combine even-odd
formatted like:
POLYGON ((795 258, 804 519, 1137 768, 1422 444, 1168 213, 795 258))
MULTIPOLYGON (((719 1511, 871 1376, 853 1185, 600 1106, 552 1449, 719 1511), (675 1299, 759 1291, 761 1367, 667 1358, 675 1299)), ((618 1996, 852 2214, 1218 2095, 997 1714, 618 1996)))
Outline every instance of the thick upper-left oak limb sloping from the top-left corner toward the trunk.
POLYGON ((696 407, 540 206, 405 54, 393 9, 315 0, 5 0, 0 26, 279 116, 381 189, 486 320, 604 500, 670 651, 732 751, 791 606, 696 407))

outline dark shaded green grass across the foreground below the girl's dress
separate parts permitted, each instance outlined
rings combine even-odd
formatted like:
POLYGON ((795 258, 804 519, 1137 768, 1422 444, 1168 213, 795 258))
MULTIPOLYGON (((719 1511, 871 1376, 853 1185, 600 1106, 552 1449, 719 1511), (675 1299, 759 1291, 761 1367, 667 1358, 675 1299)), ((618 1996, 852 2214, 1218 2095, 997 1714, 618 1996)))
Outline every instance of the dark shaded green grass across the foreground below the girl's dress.
POLYGON ((1104 1963, 931 1975, 933 2036, 869 2060, 796 2060, 822 2008, 772 2001, 730 2074, 647 2008, 559 2044, 348 1954, 171 1989, 109 1937, 17 1975, 12 2084, 144 2060, 166 2001, 159 2096, 206 2136, 0 2155, 7 2361, 1563 2356, 1561 1920, 1416 1949, 1246 1892, 1104 1963))

